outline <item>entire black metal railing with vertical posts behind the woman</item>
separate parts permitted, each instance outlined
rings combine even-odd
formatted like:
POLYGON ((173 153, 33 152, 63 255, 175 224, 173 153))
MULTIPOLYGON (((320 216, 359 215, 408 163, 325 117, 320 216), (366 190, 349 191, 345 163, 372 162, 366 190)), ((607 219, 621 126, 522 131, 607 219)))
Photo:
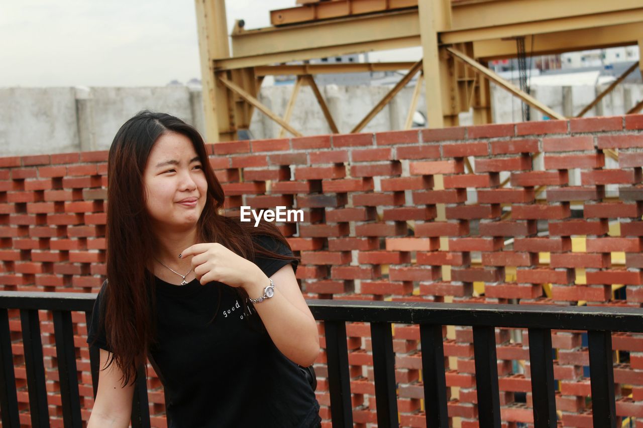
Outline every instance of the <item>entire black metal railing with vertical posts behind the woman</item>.
MULTIPOLYGON (((41 330, 38 310, 53 312, 65 427, 82 426, 71 312, 86 314, 96 294, 0 292, 0 411, 4 427, 19 427, 17 391, 9 329, 9 309, 20 311, 24 361, 33 427, 49 427, 41 330)), ((534 427, 556 427, 552 330, 586 330, 592 373, 595 427, 615 427, 615 394, 611 332, 643 332, 643 309, 625 307, 557 307, 388 301, 309 300, 312 314, 325 328, 332 426, 352 427, 346 322, 370 323, 375 376, 377 424, 397 427, 394 323, 420 326, 426 423, 448 427, 447 387, 442 326, 473 327, 478 420, 480 427, 500 427, 500 393, 494 328, 527 328, 534 406, 534 427)), ((94 397, 98 386, 99 352, 90 348, 94 397)), ((141 367, 132 402, 132 427, 149 427, 145 371, 141 367)))

